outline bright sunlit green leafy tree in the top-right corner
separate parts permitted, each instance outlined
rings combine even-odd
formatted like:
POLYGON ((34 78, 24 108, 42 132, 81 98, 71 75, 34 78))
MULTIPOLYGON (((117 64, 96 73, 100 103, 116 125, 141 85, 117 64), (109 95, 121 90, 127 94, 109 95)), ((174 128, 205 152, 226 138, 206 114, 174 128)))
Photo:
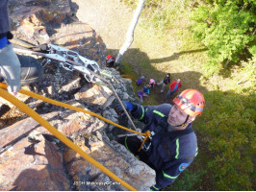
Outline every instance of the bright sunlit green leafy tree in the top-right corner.
POLYGON ((212 64, 248 59, 245 50, 255 54, 255 10, 254 0, 213 0, 192 13, 193 35, 208 47, 212 64))

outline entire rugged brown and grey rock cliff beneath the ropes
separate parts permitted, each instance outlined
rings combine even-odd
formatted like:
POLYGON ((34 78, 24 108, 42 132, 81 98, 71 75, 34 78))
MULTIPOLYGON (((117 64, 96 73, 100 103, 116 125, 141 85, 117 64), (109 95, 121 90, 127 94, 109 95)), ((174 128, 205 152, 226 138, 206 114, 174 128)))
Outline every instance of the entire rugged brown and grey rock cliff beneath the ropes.
MULTIPOLYGON (((68 0, 22 3, 10 0, 15 36, 34 44, 50 41, 62 45, 96 60, 104 68, 105 44, 89 25, 70 22, 75 18, 75 6, 70 6, 68 0)), ((115 77, 112 84, 121 100, 140 102, 130 80, 122 79, 115 69, 105 68, 105 71, 115 77)), ((58 63, 44 66, 42 82, 22 88, 35 88, 38 94, 118 123, 114 90, 106 84, 89 84, 83 75, 67 71, 58 63)), ((89 114, 28 96, 19 95, 18 99, 137 190, 148 190, 155 183, 155 172, 114 140, 115 126, 89 114)), ((26 115, 19 118, 21 120, 13 125, 0 128, 0 190, 127 190, 66 147, 37 121, 26 115)))

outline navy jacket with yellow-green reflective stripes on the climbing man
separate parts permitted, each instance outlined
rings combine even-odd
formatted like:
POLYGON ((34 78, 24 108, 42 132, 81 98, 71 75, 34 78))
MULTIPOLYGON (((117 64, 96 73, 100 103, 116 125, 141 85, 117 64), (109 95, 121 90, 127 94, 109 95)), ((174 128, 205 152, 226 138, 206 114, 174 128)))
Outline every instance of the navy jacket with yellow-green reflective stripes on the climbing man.
MULTIPOLYGON (((151 164, 156 171, 156 184, 152 187, 160 190, 176 180, 192 163, 197 155, 196 136, 194 132, 177 135, 172 139, 168 135, 157 136, 161 132, 166 132, 167 116, 172 106, 169 104, 156 107, 136 106, 132 115, 146 124, 142 132, 149 130, 155 133, 148 150, 148 164, 151 164)), ((192 129, 192 124, 187 129, 192 129)))

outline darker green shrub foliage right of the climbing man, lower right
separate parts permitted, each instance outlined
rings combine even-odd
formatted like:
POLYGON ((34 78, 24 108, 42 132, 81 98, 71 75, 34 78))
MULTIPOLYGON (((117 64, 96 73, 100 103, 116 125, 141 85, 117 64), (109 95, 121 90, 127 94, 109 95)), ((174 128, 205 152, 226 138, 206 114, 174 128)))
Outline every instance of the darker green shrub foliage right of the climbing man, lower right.
POLYGON ((234 91, 205 94, 208 108, 196 123, 215 158, 209 162, 218 190, 252 190, 255 151, 255 93, 234 91))

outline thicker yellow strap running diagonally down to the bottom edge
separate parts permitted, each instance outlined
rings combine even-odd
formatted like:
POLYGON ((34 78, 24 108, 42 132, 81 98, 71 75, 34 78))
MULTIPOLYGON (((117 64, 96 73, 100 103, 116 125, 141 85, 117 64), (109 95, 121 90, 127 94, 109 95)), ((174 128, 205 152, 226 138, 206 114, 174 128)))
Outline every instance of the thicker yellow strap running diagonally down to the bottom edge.
MULTIPOLYGON (((3 84, 1 84, 2 86, 3 84)), ((5 84, 6 86, 6 84, 5 84)), ((24 90, 23 90, 24 91, 24 90)), ((21 91, 21 92, 23 92, 21 91)), ((124 180, 119 179, 117 176, 115 176, 114 173, 112 173, 110 170, 108 170, 106 167, 104 167, 102 164, 100 164, 98 161, 94 160, 92 157, 90 157, 87 153, 85 153, 81 148, 79 148, 77 145, 75 145, 72 141, 70 141, 68 138, 64 136, 61 132, 56 130, 49 122, 44 120, 36 111, 34 111, 32 108, 29 108, 24 103, 16 99, 12 94, 7 92, 6 90, 0 88, 0 96, 2 96, 7 101, 11 102, 14 106, 17 108, 20 108, 23 112, 30 115, 33 119, 35 119, 41 126, 46 128, 49 132, 54 134, 57 138, 59 138, 61 141, 64 142, 65 145, 67 145, 69 148, 77 152, 80 156, 83 156, 86 160, 88 160, 92 165, 99 168, 102 172, 107 174, 109 177, 111 177, 113 180, 116 180, 120 182, 124 187, 126 187, 129 190, 136 191, 135 188, 133 188, 131 185, 129 185, 124 180)))

